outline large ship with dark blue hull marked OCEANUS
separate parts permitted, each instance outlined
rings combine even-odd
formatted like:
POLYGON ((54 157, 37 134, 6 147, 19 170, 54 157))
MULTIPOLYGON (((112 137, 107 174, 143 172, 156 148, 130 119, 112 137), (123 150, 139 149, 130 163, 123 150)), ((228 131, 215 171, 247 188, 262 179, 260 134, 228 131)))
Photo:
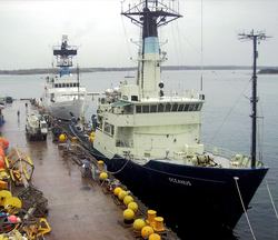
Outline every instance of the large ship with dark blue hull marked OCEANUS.
POLYGON ((158 28, 181 16, 158 0, 140 1, 121 14, 141 28, 138 68, 133 83, 123 80, 99 97, 92 154, 173 231, 190 224, 232 230, 268 166, 254 153, 201 142, 203 93, 166 93, 158 28))

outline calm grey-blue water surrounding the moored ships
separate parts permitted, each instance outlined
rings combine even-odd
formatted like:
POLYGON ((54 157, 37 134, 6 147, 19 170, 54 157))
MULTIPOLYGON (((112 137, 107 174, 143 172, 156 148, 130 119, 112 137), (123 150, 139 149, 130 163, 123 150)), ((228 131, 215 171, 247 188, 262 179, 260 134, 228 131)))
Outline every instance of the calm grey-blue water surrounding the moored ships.
MULTIPOLYGON (((82 73, 82 84, 89 92, 103 92, 107 88, 117 87, 128 76, 128 72, 82 73)), ((0 76, 0 97, 6 94, 14 99, 36 98, 42 93, 47 76, 0 76)), ((202 142, 211 143, 244 154, 250 154, 251 112, 251 71, 203 71, 203 93, 206 104, 202 109, 202 142), (227 118, 228 116, 228 118, 227 118), (219 129, 219 127, 221 127, 219 129), (217 134, 215 136, 215 133, 217 134)), ((129 83, 135 79, 128 78, 129 83)), ((200 89, 200 71, 163 71, 165 92, 179 92, 180 89, 200 89)), ((278 206, 277 172, 278 172, 278 111, 277 111, 278 76, 258 76, 258 116, 262 141, 259 150, 264 161, 270 167, 267 182, 275 203, 278 206)), ((97 97, 87 97, 90 107, 86 119, 97 110, 97 97)), ((4 113, 4 111, 3 111, 4 113)), ((266 181, 261 183, 248 210, 248 218, 256 239, 278 239, 278 219, 269 199, 266 181)), ((200 226, 205 222, 197 223, 200 226)), ((236 239, 254 239, 246 217, 242 216, 234 230, 236 239)), ((216 232, 217 236, 217 232, 216 232)), ((222 237, 222 239, 231 239, 222 237)))

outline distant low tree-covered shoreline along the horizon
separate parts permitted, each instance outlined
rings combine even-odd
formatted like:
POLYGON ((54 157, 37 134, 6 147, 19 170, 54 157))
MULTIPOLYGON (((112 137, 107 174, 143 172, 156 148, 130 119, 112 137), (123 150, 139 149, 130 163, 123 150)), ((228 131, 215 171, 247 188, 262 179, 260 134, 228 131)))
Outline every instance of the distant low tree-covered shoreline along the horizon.
MULTIPOLYGON (((162 70, 200 70, 200 66, 166 66, 162 70)), ((251 66, 203 66, 203 70, 239 70, 252 69, 251 66)), ((278 67, 257 67, 258 70, 278 71, 278 67)), ((103 71, 135 71, 136 68, 79 68, 79 73, 85 72, 103 72, 103 71)), ((77 68, 70 68, 71 73, 77 73, 77 68)), ((59 74, 60 68, 46 69, 19 69, 19 70, 0 70, 0 74, 59 74)), ((262 72, 264 73, 264 72, 262 72)))

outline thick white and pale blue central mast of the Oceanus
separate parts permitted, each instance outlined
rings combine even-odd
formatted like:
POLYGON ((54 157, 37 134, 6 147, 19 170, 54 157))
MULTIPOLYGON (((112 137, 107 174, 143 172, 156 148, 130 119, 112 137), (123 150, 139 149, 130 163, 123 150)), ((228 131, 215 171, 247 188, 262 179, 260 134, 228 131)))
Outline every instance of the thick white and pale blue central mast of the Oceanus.
POLYGON ((179 13, 158 0, 143 0, 122 16, 142 29, 141 51, 138 57, 137 84, 142 98, 155 98, 160 94, 160 66, 166 61, 166 53, 160 51, 158 28, 181 18, 179 13))

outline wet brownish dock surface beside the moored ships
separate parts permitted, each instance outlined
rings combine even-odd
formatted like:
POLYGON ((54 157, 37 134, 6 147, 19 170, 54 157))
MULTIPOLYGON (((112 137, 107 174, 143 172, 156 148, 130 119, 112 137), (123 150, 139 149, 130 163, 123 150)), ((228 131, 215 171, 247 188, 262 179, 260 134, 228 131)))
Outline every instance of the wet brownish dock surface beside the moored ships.
MULTIPOLYGON (((129 228, 118 223, 122 220, 122 210, 115 204, 111 194, 105 194, 92 178, 81 177, 71 157, 61 156, 58 143, 52 143, 52 133, 48 133, 46 141, 26 139, 26 117, 37 111, 29 100, 8 103, 2 110, 6 122, 0 127, 0 136, 9 141, 10 151, 19 149, 34 164, 32 184, 43 192, 49 207, 44 218, 51 231, 44 239, 135 239, 129 228)), ((12 187, 13 196, 22 188, 12 187)))

